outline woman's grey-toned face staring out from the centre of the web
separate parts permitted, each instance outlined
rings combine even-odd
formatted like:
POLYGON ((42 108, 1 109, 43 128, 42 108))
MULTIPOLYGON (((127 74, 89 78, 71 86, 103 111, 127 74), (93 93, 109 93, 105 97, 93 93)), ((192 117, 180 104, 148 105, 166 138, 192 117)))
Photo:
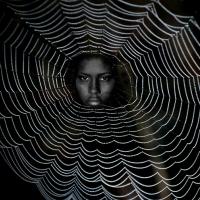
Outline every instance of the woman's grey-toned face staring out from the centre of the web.
POLYGON ((105 104, 114 84, 111 66, 104 64, 101 58, 86 58, 80 63, 76 75, 76 90, 84 105, 105 104))

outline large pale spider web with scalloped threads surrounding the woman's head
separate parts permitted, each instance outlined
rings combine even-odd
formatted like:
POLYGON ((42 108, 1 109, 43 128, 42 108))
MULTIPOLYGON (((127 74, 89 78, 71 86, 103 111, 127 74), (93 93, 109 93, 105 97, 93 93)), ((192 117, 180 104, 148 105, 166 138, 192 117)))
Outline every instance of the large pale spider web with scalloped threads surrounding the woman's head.
POLYGON ((45 199, 199 199, 199 26, 159 1, 0 1, 1 155, 45 199), (70 61, 116 56, 126 105, 73 100, 70 61), (125 91, 126 92, 126 91, 125 91))

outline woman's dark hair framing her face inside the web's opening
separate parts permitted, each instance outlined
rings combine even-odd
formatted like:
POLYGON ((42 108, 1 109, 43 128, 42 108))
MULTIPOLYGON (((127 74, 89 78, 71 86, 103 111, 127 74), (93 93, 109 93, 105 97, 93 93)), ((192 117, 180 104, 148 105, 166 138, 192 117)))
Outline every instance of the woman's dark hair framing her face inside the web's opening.
POLYGON ((83 60, 94 58, 101 59, 105 65, 110 66, 112 74, 116 80, 115 87, 107 104, 112 107, 119 107, 127 104, 131 96, 131 87, 126 70, 116 57, 97 53, 83 53, 71 60, 67 71, 66 82, 73 99, 77 102, 81 102, 75 87, 75 80, 79 66, 83 60))

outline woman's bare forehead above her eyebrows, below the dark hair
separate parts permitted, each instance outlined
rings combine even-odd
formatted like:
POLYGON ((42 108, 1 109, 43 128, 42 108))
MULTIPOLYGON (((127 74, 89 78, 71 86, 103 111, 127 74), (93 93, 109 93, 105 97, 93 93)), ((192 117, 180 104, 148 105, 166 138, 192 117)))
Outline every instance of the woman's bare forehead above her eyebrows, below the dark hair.
POLYGON ((81 61, 78 67, 79 73, 101 74, 111 72, 111 66, 105 64, 101 58, 90 58, 81 61))

